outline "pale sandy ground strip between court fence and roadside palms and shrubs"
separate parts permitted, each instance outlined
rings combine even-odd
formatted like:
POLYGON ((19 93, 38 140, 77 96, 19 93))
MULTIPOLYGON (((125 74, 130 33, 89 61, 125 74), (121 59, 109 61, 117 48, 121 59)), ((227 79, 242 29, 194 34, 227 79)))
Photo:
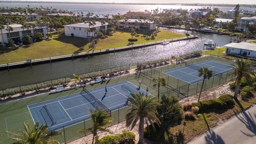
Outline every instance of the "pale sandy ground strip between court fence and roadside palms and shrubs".
MULTIPOLYGON (((229 83, 230 82, 227 82, 227 83, 224 83, 224 84, 212 87, 211 89, 203 92, 202 96, 201 96, 201 100, 218 98, 218 97, 220 97, 223 94, 234 94, 234 92, 231 91, 230 88, 229 88, 229 83)), ((191 95, 189 97, 189 102, 197 102, 198 94, 199 93, 191 95)), ((184 102, 187 102, 187 101, 188 101, 187 98, 181 99, 180 103, 184 103, 184 102)), ((112 125, 112 126, 108 127, 108 129, 113 132, 113 135, 119 134, 122 131, 130 131, 130 129, 126 127, 125 121, 121 122, 119 124, 112 125)), ((131 131, 131 132, 133 132, 136 135, 136 137, 135 137, 136 142, 138 142, 138 140, 139 140, 138 130, 139 130, 139 127, 138 127, 138 124, 137 124, 134 127, 134 129, 131 131)), ((100 138, 102 138, 102 137, 104 137, 106 135, 110 135, 110 133, 106 133, 106 132, 99 133, 100 138)), ((82 138, 79 138, 77 140, 69 142, 69 144, 82 144, 82 143, 83 144, 85 144, 85 143, 92 143, 92 134, 86 135, 86 137, 82 137, 82 138)), ((153 142, 150 142, 150 141, 145 139, 144 143, 153 143, 153 142)))

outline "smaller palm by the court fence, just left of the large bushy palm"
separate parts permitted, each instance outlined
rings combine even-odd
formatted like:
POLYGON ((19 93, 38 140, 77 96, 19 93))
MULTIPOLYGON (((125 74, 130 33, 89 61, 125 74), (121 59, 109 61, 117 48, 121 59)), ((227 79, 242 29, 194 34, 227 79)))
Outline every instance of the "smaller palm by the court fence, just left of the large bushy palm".
MULTIPOLYGON (((95 110, 89 110, 91 118, 92 118, 92 144, 94 143, 94 139, 95 141, 98 140, 98 131, 102 131, 102 132, 110 132, 110 130, 106 129, 105 126, 109 125, 112 123, 113 118, 111 117, 110 114, 107 113, 106 110, 103 109, 99 109, 98 107, 95 110)), ((81 130, 78 131, 78 133, 85 133, 86 130, 81 130)))

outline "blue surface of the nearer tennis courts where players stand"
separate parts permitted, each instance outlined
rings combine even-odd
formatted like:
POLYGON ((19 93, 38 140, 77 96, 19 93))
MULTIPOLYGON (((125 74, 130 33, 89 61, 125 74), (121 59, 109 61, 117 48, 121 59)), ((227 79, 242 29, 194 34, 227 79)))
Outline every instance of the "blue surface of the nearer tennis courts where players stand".
POLYGON ((141 92, 146 94, 144 90, 138 90, 138 86, 128 81, 107 85, 106 95, 105 87, 90 90, 89 92, 91 94, 83 91, 29 105, 28 108, 34 122, 38 121, 41 125, 47 124, 49 131, 52 131, 78 123, 83 119, 90 119, 89 110, 95 109, 95 103, 97 104, 97 102, 100 102, 101 106, 109 110, 116 110, 126 106, 127 97, 130 97, 130 93, 141 92), (93 97, 91 95, 97 99, 91 100, 93 97))

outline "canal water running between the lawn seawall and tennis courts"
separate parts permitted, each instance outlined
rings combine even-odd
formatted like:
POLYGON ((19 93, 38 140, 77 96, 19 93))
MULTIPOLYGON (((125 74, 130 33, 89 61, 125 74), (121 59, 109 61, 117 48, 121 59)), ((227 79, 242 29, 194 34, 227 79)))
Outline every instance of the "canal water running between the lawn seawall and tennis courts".
MULTIPOLYGON (((175 31, 175 30, 173 30, 175 31)), ((179 30, 179 32, 183 32, 179 30)), ((58 62, 36 65, 32 68, 15 68, 0 71, 0 90, 7 87, 25 85, 40 81, 46 81, 54 78, 67 77, 72 74, 89 73, 107 68, 118 66, 133 66, 137 62, 146 62, 170 58, 172 55, 180 55, 193 51, 203 50, 203 43, 213 39, 218 42, 218 46, 229 43, 230 36, 202 34, 202 39, 193 39, 191 41, 175 42, 169 45, 149 46, 145 49, 136 49, 133 51, 122 51, 117 53, 95 55, 94 57, 78 58, 73 60, 63 60, 58 62)))

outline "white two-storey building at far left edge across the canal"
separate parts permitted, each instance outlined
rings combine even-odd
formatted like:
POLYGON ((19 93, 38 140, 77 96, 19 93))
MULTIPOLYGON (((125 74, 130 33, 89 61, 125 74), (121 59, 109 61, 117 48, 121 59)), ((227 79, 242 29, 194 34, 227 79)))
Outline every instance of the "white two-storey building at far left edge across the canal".
POLYGON ((44 26, 37 26, 34 29, 33 28, 24 28, 24 31, 22 29, 22 25, 20 24, 13 24, 13 25, 4 25, 4 29, 2 29, 2 35, 0 34, 0 43, 2 44, 4 43, 8 43, 8 39, 13 39, 14 42, 22 42, 22 38, 24 36, 32 36, 36 33, 42 33, 43 34, 43 38, 46 38, 46 34, 47 34, 47 27, 44 26), (7 30, 7 27, 12 27, 13 30, 9 31, 7 30))

